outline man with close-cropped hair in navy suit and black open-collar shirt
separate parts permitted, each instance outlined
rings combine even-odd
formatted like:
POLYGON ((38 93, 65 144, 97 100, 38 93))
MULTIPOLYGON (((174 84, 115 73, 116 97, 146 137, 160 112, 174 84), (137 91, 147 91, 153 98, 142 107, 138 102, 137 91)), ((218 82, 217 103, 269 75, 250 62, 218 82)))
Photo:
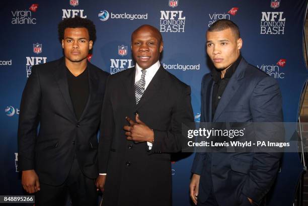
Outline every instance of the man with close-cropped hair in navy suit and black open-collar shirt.
MULTIPOLYGON (((266 122, 247 137, 280 140, 284 137, 281 124, 270 123, 283 121, 279 85, 273 77, 246 62, 240 52, 242 44, 239 28, 230 20, 219 20, 208 29, 206 51, 215 68, 202 79, 201 122, 236 122, 246 126, 258 122, 256 128, 266 122)), ((196 153, 190 184, 195 204, 261 204, 277 175, 281 153, 247 149, 262 152, 196 153)))

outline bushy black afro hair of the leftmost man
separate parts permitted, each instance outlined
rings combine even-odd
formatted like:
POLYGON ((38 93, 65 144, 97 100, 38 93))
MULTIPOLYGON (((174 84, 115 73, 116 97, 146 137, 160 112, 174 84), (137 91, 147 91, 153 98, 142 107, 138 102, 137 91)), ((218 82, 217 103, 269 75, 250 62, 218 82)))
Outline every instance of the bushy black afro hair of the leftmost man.
POLYGON ((89 19, 84 19, 84 18, 75 16, 73 18, 66 18, 62 20, 58 24, 58 35, 59 35, 60 43, 62 43, 62 39, 64 39, 64 30, 66 28, 86 28, 89 33, 90 41, 92 40, 94 43, 96 40, 95 25, 89 19))

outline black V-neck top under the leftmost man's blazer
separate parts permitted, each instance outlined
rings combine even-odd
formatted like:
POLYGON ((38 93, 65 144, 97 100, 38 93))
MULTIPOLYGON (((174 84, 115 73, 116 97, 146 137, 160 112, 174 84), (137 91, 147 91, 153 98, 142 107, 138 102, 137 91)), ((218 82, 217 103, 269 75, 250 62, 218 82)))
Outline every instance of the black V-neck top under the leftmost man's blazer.
POLYGON ((78 76, 74 76, 67 69, 67 83, 70 99, 74 108, 77 120, 80 119, 89 97, 88 68, 78 76))

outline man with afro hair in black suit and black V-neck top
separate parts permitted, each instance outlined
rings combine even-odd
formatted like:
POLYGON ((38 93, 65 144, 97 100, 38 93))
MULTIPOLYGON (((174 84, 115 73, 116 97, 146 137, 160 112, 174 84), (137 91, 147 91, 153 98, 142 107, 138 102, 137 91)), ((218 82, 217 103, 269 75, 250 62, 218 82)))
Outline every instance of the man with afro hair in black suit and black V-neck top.
POLYGON ((87 61, 96 39, 92 21, 58 25, 64 57, 32 67, 19 116, 22 185, 36 205, 97 205, 97 132, 108 73, 87 61), (39 132, 37 128, 39 124, 39 132))

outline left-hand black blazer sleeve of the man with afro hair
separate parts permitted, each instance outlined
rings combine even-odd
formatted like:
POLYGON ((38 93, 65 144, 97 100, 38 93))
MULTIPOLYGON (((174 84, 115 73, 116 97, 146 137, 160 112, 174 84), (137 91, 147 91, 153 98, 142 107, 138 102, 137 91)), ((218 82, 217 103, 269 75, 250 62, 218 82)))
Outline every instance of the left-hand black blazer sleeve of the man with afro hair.
POLYGON ((19 171, 34 169, 35 142, 41 102, 40 78, 36 66, 23 91, 18 124, 19 171))

